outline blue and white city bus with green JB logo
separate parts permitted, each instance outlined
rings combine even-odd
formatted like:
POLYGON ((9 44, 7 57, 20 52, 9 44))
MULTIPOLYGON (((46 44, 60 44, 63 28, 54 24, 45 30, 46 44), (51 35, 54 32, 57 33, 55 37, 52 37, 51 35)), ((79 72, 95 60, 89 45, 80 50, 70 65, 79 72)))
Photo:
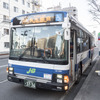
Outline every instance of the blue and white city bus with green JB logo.
POLYGON ((7 79, 33 89, 67 91, 91 64, 93 39, 66 11, 14 17, 7 79))

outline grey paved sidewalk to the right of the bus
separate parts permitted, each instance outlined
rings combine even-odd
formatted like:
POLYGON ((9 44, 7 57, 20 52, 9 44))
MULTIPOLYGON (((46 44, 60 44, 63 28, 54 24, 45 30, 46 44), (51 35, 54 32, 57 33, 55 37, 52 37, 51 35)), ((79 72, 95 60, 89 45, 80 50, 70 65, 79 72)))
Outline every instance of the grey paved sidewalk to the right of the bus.
POLYGON ((100 70, 100 57, 74 100, 100 100, 100 76, 95 73, 96 70, 100 70))

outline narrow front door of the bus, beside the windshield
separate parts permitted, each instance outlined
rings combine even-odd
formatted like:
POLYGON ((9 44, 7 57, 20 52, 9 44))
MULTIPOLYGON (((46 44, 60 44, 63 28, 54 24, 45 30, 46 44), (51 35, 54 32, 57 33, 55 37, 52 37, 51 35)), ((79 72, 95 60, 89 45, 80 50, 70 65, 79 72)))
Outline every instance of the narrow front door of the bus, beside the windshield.
POLYGON ((75 81, 75 65, 77 60, 76 55, 76 30, 71 30, 70 35, 70 82, 73 83, 75 81))

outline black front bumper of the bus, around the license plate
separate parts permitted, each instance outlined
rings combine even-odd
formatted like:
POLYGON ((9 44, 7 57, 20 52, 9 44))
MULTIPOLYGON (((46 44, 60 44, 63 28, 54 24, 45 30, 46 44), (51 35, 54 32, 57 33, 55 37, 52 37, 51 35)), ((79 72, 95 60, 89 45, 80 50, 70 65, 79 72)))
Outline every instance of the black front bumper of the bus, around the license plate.
MULTIPOLYGON (((8 74, 7 78, 8 78, 8 81, 19 83, 22 85, 24 85, 24 82, 25 82, 25 79, 18 78, 17 76, 14 76, 14 75, 8 74)), ((30 79, 27 78, 27 80, 30 80, 30 79)), ((35 78, 33 78, 33 79, 31 78, 31 81, 32 80, 36 81, 35 78)), ((36 81, 36 88, 49 89, 49 90, 55 90, 55 91, 65 91, 66 86, 68 87, 68 84, 54 83, 54 82, 42 83, 42 82, 36 81)))

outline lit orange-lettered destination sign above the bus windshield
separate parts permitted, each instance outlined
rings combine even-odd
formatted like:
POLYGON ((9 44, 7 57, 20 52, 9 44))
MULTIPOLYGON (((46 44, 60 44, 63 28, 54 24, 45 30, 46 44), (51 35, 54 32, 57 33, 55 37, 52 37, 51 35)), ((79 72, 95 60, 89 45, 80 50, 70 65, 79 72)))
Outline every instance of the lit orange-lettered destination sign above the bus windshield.
POLYGON ((47 14, 35 14, 15 17, 13 19, 13 25, 25 25, 25 24, 37 24, 48 22, 62 22, 63 13, 47 13, 47 14))

